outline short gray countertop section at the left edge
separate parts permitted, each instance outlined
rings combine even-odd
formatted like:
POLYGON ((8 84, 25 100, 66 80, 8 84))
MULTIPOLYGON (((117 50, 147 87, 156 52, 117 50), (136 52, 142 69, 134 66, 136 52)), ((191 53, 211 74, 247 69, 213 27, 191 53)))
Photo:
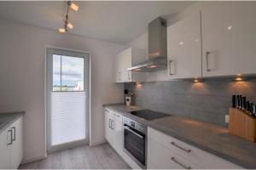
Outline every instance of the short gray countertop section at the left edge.
POLYGON ((15 122, 20 116, 23 116, 25 111, 0 113, 0 133, 2 133, 7 127, 15 122))

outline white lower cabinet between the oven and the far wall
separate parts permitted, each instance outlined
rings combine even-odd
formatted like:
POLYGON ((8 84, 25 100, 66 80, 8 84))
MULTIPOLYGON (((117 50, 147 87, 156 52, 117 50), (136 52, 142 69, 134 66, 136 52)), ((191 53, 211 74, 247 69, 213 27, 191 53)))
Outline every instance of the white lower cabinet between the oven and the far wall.
POLYGON ((105 138, 122 156, 124 147, 123 116, 108 109, 105 109, 105 138))

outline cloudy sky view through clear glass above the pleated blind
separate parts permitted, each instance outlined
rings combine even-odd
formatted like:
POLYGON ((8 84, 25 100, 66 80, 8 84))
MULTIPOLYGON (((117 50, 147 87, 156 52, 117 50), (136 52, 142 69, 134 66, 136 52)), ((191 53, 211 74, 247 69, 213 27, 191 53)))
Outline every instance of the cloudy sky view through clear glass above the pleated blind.
POLYGON ((53 91, 84 91, 84 59, 53 55, 53 91))

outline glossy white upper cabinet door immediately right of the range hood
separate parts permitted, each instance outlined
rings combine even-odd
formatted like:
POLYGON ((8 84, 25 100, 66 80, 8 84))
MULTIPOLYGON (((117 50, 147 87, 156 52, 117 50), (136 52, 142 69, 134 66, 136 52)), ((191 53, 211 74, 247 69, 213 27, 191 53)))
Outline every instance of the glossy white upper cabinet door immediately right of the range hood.
POLYGON ((201 16, 189 14, 167 28, 170 78, 201 77, 201 16))

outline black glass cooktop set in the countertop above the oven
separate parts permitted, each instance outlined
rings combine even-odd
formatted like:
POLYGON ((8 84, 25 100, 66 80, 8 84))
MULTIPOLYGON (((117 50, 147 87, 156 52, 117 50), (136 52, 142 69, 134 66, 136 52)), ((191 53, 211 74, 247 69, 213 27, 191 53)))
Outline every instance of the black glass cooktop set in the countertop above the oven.
POLYGON ((131 115, 141 117, 148 121, 158 119, 161 117, 165 117, 165 116, 171 116, 171 115, 167 115, 165 113, 161 113, 158 111, 150 111, 150 110, 131 111, 131 115))

